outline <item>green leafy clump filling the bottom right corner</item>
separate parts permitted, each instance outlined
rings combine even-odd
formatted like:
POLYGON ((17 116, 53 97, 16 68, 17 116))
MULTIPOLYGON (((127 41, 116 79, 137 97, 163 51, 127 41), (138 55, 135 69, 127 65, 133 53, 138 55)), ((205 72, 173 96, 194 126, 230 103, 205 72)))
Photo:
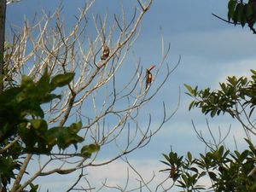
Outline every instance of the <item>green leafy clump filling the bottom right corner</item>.
POLYGON ((184 191, 256 191, 256 177, 247 176, 254 167, 255 148, 248 140, 247 143, 249 149, 242 153, 230 153, 220 146, 207 154, 200 154, 200 158, 193 158, 190 152, 185 159, 177 157, 174 152, 163 154, 166 160, 161 162, 168 168, 162 171, 170 172, 173 182, 184 191), (201 178, 206 177, 210 179, 211 186, 198 184, 201 178))

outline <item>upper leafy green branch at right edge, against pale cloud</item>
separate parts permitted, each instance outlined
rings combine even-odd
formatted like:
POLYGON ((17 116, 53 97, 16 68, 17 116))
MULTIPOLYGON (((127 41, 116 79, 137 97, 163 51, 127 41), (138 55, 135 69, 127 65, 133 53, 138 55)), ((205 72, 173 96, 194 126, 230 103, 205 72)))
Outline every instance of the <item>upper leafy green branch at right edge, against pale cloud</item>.
POLYGON ((240 107, 243 111, 248 110, 250 118, 256 106, 256 71, 251 72, 251 79, 228 77, 227 83, 219 84, 219 90, 198 90, 197 86, 192 88, 186 84, 187 94, 195 98, 190 103, 189 110, 196 107, 201 108, 202 113, 210 113, 211 117, 229 113, 234 118, 240 115, 240 107))

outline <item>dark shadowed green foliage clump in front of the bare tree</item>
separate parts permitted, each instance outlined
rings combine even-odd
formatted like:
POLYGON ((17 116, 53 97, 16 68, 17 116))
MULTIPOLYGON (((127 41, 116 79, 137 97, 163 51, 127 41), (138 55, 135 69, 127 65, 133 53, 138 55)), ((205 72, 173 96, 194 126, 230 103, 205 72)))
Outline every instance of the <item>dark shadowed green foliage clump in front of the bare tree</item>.
POLYGON ((49 153, 55 144, 64 149, 70 143, 81 142, 82 137, 76 135, 81 128, 80 123, 49 129, 41 108, 43 103, 60 97, 52 94, 52 90, 68 84, 72 79, 73 73, 67 73, 50 80, 45 70, 36 83, 23 76, 20 87, 4 90, 0 95, 0 126, 3 127, 0 131, 0 142, 19 135, 26 145, 24 151, 32 153, 49 153), (52 139, 53 136, 55 140, 52 139))

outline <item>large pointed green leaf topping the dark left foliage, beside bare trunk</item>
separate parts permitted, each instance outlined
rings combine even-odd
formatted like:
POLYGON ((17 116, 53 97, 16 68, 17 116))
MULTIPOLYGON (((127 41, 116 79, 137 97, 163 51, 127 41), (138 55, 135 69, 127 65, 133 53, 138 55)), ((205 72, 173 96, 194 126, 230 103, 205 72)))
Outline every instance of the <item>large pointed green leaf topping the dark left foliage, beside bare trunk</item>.
POLYGON ((50 82, 50 89, 55 90, 56 87, 62 87, 70 83, 75 73, 58 74, 50 82))

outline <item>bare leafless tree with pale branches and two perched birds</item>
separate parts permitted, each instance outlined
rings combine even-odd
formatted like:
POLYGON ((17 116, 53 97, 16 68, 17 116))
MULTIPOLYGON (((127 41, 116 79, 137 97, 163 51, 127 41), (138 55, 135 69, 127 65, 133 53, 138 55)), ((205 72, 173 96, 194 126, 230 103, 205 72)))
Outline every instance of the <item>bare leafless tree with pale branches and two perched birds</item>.
MULTIPOLYGON (((61 7, 52 15, 44 12, 37 23, 25 21, 23 27, 14 28, 13 34, 9 34, 10 46, 5 51, 5 55, 9 56, 6 56, 4 67, 8 73, 4 79, 5 87, 9 87, 15 86, 15 81, 19 82, 24 73, 39 79, 46 67, 50 75, 75 72, 73 82, 67 89, 60 90, 61 99, 44 106, 45 117, 49 125, 60 126, 81 120, 83 131, 80 135, 85 138, 83 144, 97 143, 101 150, 90 159, 78 156, 76 148, 64 151, 55 148, 50 155, 26 154, 22 157, 23 165, 17 172, 15 182, 10 186, 12 192, 26 189, 38 177, 72 172, 80 174, 67 191, 90 191, 90 183, 87 182, 83 183, 83 187, 76 187, 85 175, 84 168, 107 165, 142 148, 172 116, 166 113, 163 104, 163 119, 158 127, 151 127, 150 115, 147 124, 138 122, 143 106, 159 92, 177 67, 170 69, 166 65, 166 76, 158 79, 170 49, 167 46, 165 50, 164 41, 160 63, 152 72, 153 82, 147 89, 144 86, 146 70, 140 61, 131 64, 131 75, 119 75, 125 57, 137 40, 143 15, 153 0, 137 0, 131 18, 126 18, 122 9, 121 15, 94 15, 90 23, 88 11, 93 3, 95 0, 88 1, 83 9, 79 9, 76 23, 69 32, 61 21, 61 7), (50 25, 53 21, 54 26, 50 25), (93 35, 87 32, 91 25, 95 29, 93 35), (97 157, 105 148, 113 148, 112 156, 100 161, 97 157), (24 177, 27 167, 31 165, 36 165, 37 169, 24 177)), ((19 138, 13 141, 16 142, 19 142, 19 138)))

